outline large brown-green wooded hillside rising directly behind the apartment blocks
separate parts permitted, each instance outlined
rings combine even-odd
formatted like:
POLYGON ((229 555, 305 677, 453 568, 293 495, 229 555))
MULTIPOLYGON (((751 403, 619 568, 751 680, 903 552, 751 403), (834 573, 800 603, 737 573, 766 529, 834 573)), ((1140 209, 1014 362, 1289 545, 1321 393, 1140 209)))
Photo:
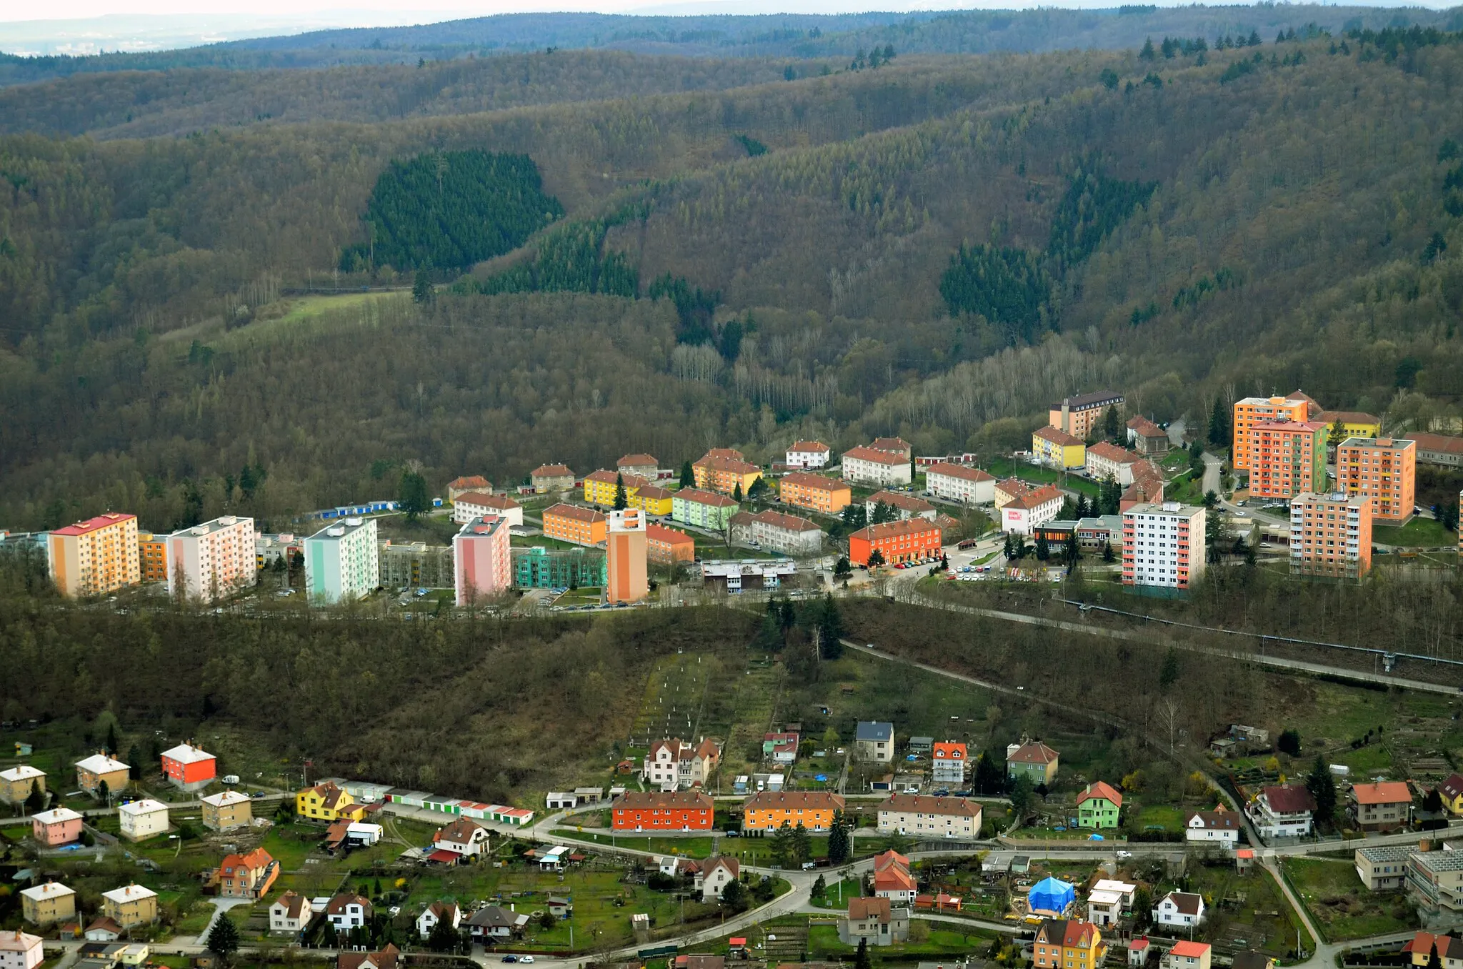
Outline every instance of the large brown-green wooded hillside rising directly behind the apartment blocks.
MULTIPOLYGON (((1160 420, 1295 386, 1390 427, 1459 413, 1459 35, 1165 40, 0 139, 0 521, 279 520, 386 495, 407 460, 440 484, 629 449, 767 460, 793 435, 999 451, 1097 385, 1160 420), (454 152, 525 155, 565 217, 467 278, 429 259, 448 285, 426 303, 290 302, 410 283, 336 274, 382 174, 415 173, 391 211, 430 214, 454 152), (246 464, 268 471, 249 498, 246 464)), ((481 211, 486 231, 511 206, 481 211)))

